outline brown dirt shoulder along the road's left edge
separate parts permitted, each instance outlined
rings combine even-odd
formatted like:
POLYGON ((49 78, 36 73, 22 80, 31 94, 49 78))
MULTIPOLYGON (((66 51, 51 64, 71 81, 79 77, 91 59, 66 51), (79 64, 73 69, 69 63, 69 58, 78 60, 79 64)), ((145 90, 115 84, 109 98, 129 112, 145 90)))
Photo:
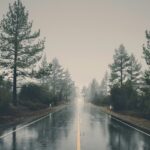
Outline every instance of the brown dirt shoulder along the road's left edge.
POLYGON ((52 108, 45 108, 36 111, 18 110, 14 115, 0 116, 0 127, 12 126, 19 123, 27 123, 32 120, 38 119, 49 113, 57 112, 65 108, 67 104, 60 104, 52 108))

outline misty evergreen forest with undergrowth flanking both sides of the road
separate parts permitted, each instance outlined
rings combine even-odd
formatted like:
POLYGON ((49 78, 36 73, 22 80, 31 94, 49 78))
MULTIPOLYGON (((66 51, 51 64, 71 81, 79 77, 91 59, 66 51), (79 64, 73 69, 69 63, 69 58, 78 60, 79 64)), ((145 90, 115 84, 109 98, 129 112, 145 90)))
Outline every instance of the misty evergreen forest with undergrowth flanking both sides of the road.
MULTIPOLYGON (((73 100, 76 86, 57 58, 47 61, 45 38, 32 31, 33 22, 20 0, 9 5, 0 21, 0 113, 12 107, 40 109, 73 100)), ((144 29, 143 29, 144 30, 144 29)), ((93 79, 83 87, 85 100, 110 106, 116 111, 150 114, 150 32, 141 51, 147 64, 144 70, 134 54, 121 44, 114 51, 101 83, 93 79)))

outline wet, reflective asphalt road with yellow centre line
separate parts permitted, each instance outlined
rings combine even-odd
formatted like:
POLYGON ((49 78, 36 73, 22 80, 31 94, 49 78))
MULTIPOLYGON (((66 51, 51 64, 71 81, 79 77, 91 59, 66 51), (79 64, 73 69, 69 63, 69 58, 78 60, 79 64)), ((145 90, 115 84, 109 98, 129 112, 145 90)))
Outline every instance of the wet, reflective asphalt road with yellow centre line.
POLYGON ((150 136, 81 101, 0 136, 0 150, 150 150, 150 136))

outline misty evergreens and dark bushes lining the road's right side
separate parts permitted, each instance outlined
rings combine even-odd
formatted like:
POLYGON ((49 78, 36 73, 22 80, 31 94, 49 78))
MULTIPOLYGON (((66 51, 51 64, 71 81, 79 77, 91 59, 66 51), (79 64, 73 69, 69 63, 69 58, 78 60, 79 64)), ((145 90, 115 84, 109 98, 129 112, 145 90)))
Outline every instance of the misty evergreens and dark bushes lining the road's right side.
POLYGON ((83 87, 84 98, 97 105, 112 105, 116 111, 136 111, 141 115, 150 114, 150 32, 146 31, 147 44, 143 55, 147 69, 142 70, 134 54, 129 54, 123 44, 114 52, 113 63, 98 83, 93 79, 83 87))

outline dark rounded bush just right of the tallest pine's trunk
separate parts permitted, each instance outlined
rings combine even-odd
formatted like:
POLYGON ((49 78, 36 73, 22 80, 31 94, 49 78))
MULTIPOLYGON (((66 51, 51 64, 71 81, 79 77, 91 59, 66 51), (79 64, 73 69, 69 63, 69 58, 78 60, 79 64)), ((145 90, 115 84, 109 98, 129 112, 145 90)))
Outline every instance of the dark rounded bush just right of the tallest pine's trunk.
POLYGON ((34 107, 33 105, 38 105, 38 103, 48 106, 51 102, 48 89, 34 83, 25 84, 22 86, 19 93, 19 99, 22 102, 26 102, 26 105, 28 106, 31 104, 32 107, 34 107), (32 103, 34 104, 32 105, 32 103))

